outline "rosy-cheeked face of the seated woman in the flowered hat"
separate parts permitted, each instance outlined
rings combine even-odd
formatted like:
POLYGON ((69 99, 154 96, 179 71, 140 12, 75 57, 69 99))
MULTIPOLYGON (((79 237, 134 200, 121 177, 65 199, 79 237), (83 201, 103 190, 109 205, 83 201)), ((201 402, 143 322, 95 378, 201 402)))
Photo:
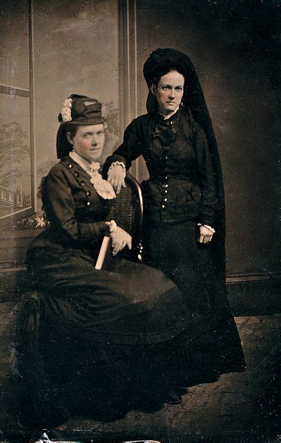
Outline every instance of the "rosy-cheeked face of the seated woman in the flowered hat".
POLYGON ((68 141, 73 145, 77 154, 85 160, 97 161, 104 149, 104 125, 79 126, 75 136, 70 139, 67 133, 68 141))

